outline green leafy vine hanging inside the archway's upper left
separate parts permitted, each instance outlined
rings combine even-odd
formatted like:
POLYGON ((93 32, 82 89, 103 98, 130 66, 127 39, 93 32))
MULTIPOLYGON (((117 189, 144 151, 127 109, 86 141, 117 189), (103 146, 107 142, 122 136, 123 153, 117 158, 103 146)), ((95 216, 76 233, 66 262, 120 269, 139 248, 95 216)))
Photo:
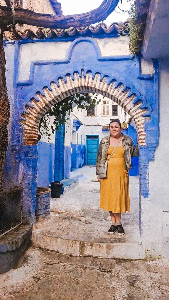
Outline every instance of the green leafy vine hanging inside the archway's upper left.
POLYGON ((78 109, 82 108, 88 110, 90 107, 95 107, 95 105, 101 101, 101 99, 97 100, 97 95, 98 94, 94 93, 90 95, 88 93, 76 93, 55 104, 39 122, 38 140, 45 134, 48 137, 48 142, 50 142, 51 134, 54 134, 55 131, 58 130, 60 124, 65 125, 66 121, 69 120, 69 116, 73 112, 75 104, 78 109), (52 124, 50 116, 54 116, 54 118, 52 118, 52 120, 54 119, 52 124))

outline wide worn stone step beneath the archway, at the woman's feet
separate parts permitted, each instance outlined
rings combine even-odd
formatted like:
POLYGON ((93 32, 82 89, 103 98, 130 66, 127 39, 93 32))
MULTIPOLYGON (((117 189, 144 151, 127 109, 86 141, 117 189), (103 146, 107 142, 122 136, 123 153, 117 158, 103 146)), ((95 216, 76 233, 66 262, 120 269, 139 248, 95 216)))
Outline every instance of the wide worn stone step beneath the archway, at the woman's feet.
POLYGON ((36 247, 72 256, 145 258, 140 236, 132 226, 126 225, 125 235, 119 236, 117 233, 107 233, 109 225, 104 216, 98 222, 96 217, 73 217, 52 212, 50 220, 36 223, 32 232, 32 243, 36 247), (133 230, 132 237, 130 230, 133 230))

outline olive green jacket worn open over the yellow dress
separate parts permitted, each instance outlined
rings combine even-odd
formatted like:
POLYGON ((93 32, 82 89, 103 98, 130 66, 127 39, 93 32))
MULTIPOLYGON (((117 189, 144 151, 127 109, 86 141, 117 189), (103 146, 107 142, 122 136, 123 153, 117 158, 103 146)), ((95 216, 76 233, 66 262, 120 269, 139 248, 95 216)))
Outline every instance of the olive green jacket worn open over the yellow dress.
MULTIPOLYGON (((122 133, 121 133, 122 134, 122 133)), ((124 159, 128 170, 132 169, 132 162, 131 157, 132 156, 138 156, 139 150, 138 150, 138 144, 135 147, 133 140, 128 135, 122 134, 122 144, 124 148, 124 159)), ((104 164, 107 159, 107 150, 109 148, 110 144, 110 135, 107 137, 103 137, 103 139, 100 142, 99 149, 97 151, 97 160, 96 160, 96 174, 99 174, 99 167, 104 167, 104 164)))

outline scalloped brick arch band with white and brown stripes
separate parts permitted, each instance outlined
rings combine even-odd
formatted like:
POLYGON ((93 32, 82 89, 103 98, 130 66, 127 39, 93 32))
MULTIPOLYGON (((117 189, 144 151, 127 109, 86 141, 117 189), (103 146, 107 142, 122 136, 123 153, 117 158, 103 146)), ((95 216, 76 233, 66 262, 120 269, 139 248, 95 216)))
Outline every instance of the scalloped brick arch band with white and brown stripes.
POLYGON ((145 118, 151 118, 151 106, 139 91, 130 88, 117 79, 109 79, 109 76, 101 78, 100 73, 94 75, 89 70, 84 74, 74 73, 74 78, 66 74, 66 81, 58 78, 51 82, 50 89, 43 88, 44 95, 36 92, 36 98, 30 99, 21 114, 20 124, 23 125, 24 146, 36 145, 38 141, 38 125, 43 115, 51 107, 77 92, 89 91, 106 96, 119 104, 134 120, 139 137, 140 146, 146 146, 146 132, 144 128, 145 118))

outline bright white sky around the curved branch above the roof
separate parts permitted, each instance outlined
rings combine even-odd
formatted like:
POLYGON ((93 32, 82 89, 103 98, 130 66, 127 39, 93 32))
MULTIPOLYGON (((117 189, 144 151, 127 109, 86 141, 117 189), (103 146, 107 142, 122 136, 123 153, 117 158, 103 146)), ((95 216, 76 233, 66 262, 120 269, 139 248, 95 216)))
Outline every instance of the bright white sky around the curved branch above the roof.
MULTIPOLYGON (((58 0, 61 3, 63 15, 85 13, 97 8, 103 0, 58 0)), ((123 10, 129 10, 130 4, 126 0, 122 0, 118 5, 123 10)), ((119 11, 118 7, 115 9, 119 11)), ((104 21, 108 26, 112 22, 124 22, 128 19, 128 13, 116 13, 113 11, 104 21)))

